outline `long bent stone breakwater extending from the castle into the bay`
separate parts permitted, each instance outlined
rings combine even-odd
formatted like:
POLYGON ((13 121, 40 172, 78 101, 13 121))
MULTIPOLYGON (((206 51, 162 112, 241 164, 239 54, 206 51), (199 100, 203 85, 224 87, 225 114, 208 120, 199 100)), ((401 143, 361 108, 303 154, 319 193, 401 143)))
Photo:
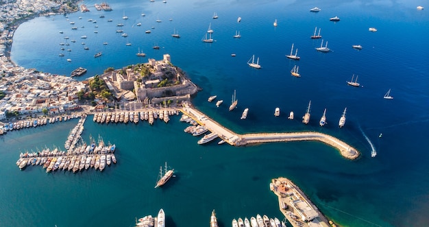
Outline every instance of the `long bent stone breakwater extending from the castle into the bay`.
POLYGON ((206 127, 210 132, 218 134, 223 141, 234 146, 242 146, 252 143, 269 143, 269 142, 289 142, 289 141, 320 141, 335 147, 339 150, 344 158, 356 159, 360 152, 356 148, 348 145, 344 141, 323 134, 320 132, 281 132, 281 133, 257 133, 257 134, 236 134, 228 128, 221 126, 215 120, 210 119, 199 110, 196 110, 189 104, 184 104, 181 111, 197 121, 201 126, 206 127))

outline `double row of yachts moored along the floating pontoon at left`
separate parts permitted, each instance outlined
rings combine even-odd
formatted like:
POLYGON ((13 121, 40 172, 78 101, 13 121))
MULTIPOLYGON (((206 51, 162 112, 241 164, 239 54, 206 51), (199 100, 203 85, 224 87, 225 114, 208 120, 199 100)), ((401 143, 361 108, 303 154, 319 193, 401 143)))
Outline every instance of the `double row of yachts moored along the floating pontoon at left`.
POLYGON ((106 165, 117 163, 113 154, 115 150, 116 145, 105 145, 102 140, 99 140, 98 146, 93 142, 91 145, 82 145, 69 152, 60 151, 57 148, 54 150, 47 148, 42 152, 21 153, 16 165, 20 169, 29 165, 42 165, 47 173, 57 169, 75 173, 93 167, 103 171, 106 165))

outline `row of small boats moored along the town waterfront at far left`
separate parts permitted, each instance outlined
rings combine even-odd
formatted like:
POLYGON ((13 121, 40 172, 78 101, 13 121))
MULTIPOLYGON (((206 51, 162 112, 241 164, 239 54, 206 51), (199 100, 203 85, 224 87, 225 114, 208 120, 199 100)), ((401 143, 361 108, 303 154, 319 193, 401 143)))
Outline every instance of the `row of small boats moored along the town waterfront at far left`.
POLYGON ((30 127, 37 127, 37 126, 44 126, 47 123, 56 123, 57 121, 67 121, 72 118, 77 118, 79 116, 77 115, 64 115, 64 116, 58 116, 58 117, 45 117, 42 119, 31 119, 31 120, 23 120, 23 121, 16 121, 14 123, 6 123, 5 126, 0 128, 0 130, 3 131, 3 133, 12 131, 12 130, 19 130, 21 128, 30 128, 30 127))

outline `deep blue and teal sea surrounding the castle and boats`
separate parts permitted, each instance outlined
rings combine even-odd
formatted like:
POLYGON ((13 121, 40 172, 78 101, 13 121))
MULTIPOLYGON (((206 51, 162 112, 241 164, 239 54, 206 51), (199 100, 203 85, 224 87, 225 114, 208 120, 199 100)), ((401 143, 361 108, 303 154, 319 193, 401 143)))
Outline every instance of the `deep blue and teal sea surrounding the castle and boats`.
POLYGON ((101 136, 117 145, 116 165, 77 174, 16 167, 21 152, 63 149, 74 119, 0 136, 1 226, 134 226, 136 217, 156 216, 160 208, 168 227, 208 226, 213 209, 221 227, 257 214, 283 219, 269 191, 271 179, 280 176, 293 180, 338 226, 429 226, 429 14, 416 9, 429 7, 428 1, 112 0, 111 12, 95 10, 101 2, 84 3, 90 12, 22 23, 14 33, 12 61, 59 75, 84 67, 88 73, 76 79, 85 80, 108 67, 161 60, 169 53, 202 88, 192 97, 195 108, 230 130, 323 132, 356 147, 360 158, 347 160, 315 141, 197 145, 199 138, 183 132, 187 125, 180 116, 154 126, 101 125, 89 117, 84 141, 101 136), (316 6, 321 11, 310 12, 316 6), (212 19, 215 13, 218 19, 212 19), (334 16, 341 20, 330 21, 334 16), (209 26, 215 41, 203 43, 209 26), (322 42, 310 39, 315 27, 329 53, 315 50, 322 42), (236 32, 241 38, 233 38, 236 32), (292 45, 300 60, 285 57, 292 45), (139 49, 145 58, 136 56, 139 49), (252 56, 262 69, 247 65, 252 56), (295 65, 301 77, 291 75, 295 65), (352 76, 360 87, 347 86, 352 76), (389 89, 394 99, 383 99, 389 89), (238 105, 230 112, 234 91, 238 105), (210 95, 223 104, 208 102, 210 95), (304 125, 310 101, 310 123, 304 125), (273 115, 276 107, 280 117, 273 115), (245 108, 249 114, 241 120, 245 108), (320 127, 325 108, 328 123, 320 127), (345 108, 347 120, 339 128, 345 108), (287 119, 291 111, 294 120, 287 119), (175 178, 154 189, 165 162, 175 178))

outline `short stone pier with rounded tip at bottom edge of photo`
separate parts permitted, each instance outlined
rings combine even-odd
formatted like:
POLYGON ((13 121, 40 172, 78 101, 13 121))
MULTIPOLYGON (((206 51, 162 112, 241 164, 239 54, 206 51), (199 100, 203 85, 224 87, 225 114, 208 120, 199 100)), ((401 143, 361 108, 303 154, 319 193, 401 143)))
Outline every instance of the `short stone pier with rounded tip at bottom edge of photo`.
POLYGON ((278 196, 280 211, 293 227, 335 227, 336 225, 319 211, 304 192, 287 178, 275 178, 269 184, 278 196))

